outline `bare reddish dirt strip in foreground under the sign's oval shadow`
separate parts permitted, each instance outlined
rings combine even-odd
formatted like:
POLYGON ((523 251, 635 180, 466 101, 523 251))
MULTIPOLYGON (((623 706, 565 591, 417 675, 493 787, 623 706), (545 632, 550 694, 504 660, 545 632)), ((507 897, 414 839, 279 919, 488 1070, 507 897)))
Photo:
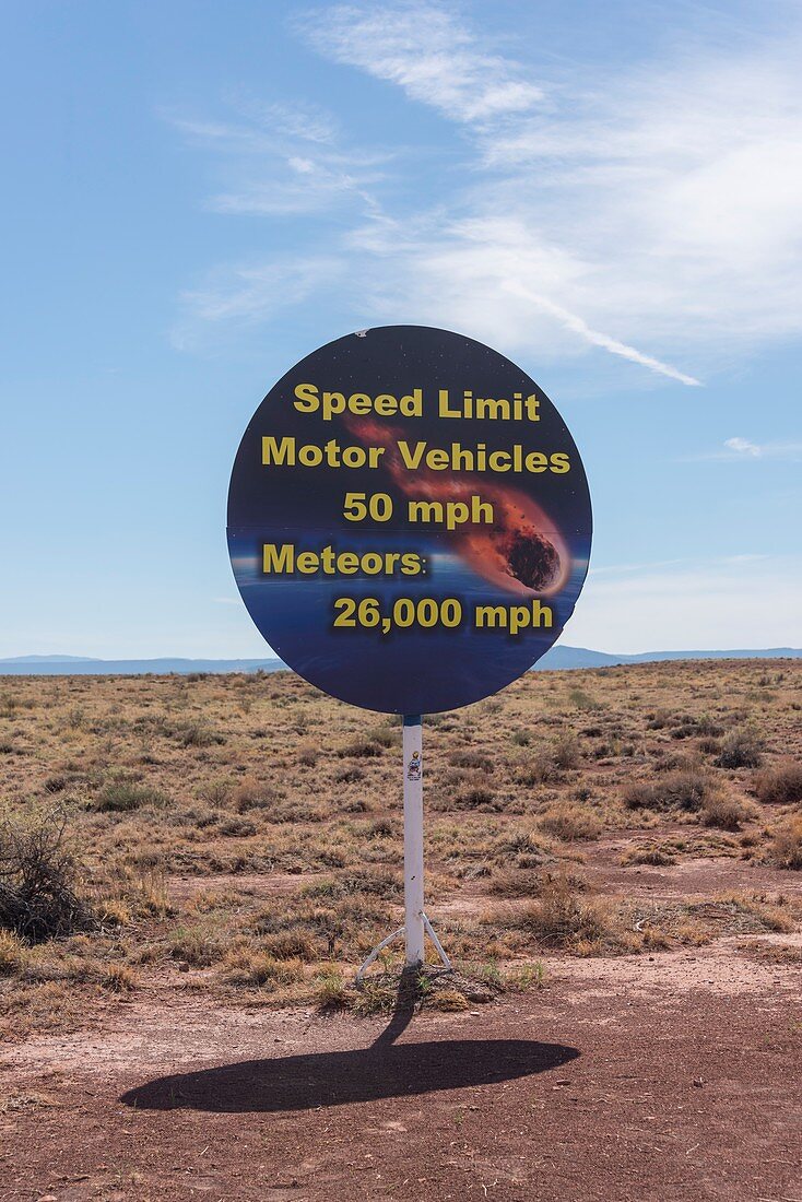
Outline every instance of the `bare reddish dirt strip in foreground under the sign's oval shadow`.
POLYGON ((802 1200, 802 974, 743 942, 554 960, 546 989, 397 1043, 380 1019, 120 1004, 0 1057, 2 1197, 802 1200))

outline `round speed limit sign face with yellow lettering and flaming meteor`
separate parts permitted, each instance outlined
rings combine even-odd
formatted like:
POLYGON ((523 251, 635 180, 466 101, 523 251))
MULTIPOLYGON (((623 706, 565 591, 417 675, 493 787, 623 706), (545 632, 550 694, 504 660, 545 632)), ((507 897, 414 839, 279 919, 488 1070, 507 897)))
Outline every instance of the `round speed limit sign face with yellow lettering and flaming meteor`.
POLYGON ((228 549, 278 655, 341 701, 456 709, 560 635, 590 553, 565 423, 461 334, 386 326, 279 380, 237 452, 228 549))

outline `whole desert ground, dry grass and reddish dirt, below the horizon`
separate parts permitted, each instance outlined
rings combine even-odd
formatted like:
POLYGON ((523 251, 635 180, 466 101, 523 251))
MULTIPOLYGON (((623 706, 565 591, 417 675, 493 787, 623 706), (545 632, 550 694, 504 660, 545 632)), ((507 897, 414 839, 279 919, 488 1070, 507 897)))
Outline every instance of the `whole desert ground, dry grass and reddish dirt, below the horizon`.
POLYGON ((802 662, 0 683, 0 1195, 802 1202, 802 662), (432 957, 433 965, 436 957, 432 957))

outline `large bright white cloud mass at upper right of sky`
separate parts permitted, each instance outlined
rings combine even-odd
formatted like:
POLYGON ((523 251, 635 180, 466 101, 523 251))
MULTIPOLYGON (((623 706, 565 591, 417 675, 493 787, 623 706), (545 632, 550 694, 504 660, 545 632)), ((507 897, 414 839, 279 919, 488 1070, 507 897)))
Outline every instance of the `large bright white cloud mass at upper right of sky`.
MULTIPOLYGON (((525 103, 497 111, 476 85, 482 35, 447 6, 338 6, 305 28, 321 54, 471 131, 469 183, 416 245, 444 320, 456 309, 481 328, 493 307, 507 346, 533 329, 548 343, 554 323, 616 355, 647 344, 629 357, 659 373, 666 356, 703 367, 733 339, 748 349, 802 329, 798 23, 783 44, 749 31, 741 49, 705 44, 604 79, 582 65, 547 79, 541 59, 525 103), (510 269, 488 272, 500 258, 510 269), (473 281, 473 304, 455 305, 455 279, 473 281)), ((500 81, 523 78, 493 63, 500 81)), ((695 382, 699 368, 666 374, 695 382)))

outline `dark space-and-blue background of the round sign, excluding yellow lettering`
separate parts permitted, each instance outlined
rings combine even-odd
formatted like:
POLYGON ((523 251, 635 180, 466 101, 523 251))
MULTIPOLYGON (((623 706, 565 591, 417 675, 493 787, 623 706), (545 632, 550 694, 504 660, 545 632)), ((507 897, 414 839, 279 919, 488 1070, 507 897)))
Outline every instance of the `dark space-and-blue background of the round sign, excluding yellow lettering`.
MULTIPOLYGON (((275 651, 297 672, 345 701, 396 713, 452 709, 488 696, 531 666, 552 645, 568 621, 582 588, 590 552, 592 517, 582 463, 564 422, 548 398, 519 368, 471 339, 420 327, 372 329, 346 335, 315 351, 289 371, 265 398, 243 438, 228 499, 228 546, 237 584, 248 611, 275 651), (354 417, 323 421, 320 410, 299 412, 298 383, 320 393, 346 397, 367 393, 396 397, 421 388, 423 416, 354 417), (464 389, 475 397, 512 398, 535 393, 539 419, 442 418, 438 393, 447 388, 452 406, 464 389), (295 438, 297 446, 385 445, 376 469, 265 466, 262 438, 295 438), (392 444, 426 441, 448 448, 452 442, 475 451, 524 454, 565 453, 570 470, 553 472, 404 471, 393 468, 392 444), (393 501, 388 522, 349 522, 343 517, 346 492, 387 493, 393 501), (489 499, 493 526, 442 525, 409 520, 408 502, 475 494, 489 499), (527 516, 524 516, 528 514, 527 516), (560 569, 540 593, 499 572, 499 548, 510 546, 510 523, 537 531, 560 548, 560 569), (414 552, 426 560, 421 575, 265 575, 263 543, 292 543, 296 552, 414 552), (334 601, 375 597, 382 614, 398 597, 456 597, 463 606, 458 629, 335 630, 334 601), (509 607, 540 597, 552 609, 551 627, 511 635, 504 629, 474 626, 477 605, 509 607)), ((515 531, 512 537, 517 537, 515 531)), ((525 541, 525 540, 524 540, 525 541)), ((503 557, 501 557, 503 558, 503 557)))

